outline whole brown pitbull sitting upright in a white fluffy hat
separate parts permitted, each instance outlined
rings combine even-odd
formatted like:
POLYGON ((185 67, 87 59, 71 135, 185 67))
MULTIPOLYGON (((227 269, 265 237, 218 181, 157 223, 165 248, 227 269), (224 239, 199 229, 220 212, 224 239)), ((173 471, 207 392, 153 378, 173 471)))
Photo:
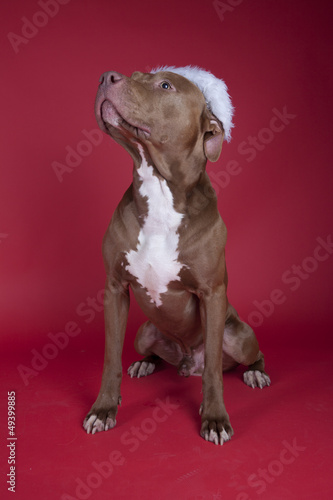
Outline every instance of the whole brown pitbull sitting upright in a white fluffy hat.
POLYGON ((230 138, 232 109, 224 82, 199 68, 101 77, 98 125, 128 151, 134 168, 103 242, 105 359, 87 433, 116 425, 129 286, 148 321, 135 340, 145 357, 128 373, 150 375, 163 359, 181 375, 202 375, 204 439, 223 444, 233 434, 222 370, 241 363, 247 385, 270 385, 254 332, 228 303, 227 231, 205 170, 230 138))

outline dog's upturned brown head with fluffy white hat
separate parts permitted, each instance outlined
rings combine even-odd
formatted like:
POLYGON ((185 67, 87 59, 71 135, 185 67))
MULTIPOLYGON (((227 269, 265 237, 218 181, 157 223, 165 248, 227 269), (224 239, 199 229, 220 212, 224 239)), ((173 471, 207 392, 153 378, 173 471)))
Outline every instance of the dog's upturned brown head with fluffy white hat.
POLYGON ((139 143, 157 165, 190 156, 217 161, 233 126, 224 82, 190 66, 135 72, 130 78, 104 73, 95 113, 99 127, 134 158, 139 143))

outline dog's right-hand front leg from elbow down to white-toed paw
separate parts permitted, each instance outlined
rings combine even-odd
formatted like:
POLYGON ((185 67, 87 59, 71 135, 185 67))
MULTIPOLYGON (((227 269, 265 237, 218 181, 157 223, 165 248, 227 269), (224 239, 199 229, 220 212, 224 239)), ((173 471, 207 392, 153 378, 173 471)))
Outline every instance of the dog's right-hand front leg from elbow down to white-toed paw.
POLYGON ((233 435, 223 401, 222 343, 227 307, 225 285, 202 293, 200 299, 205 346, 200 435, 206 441, 223 444, 233 435))

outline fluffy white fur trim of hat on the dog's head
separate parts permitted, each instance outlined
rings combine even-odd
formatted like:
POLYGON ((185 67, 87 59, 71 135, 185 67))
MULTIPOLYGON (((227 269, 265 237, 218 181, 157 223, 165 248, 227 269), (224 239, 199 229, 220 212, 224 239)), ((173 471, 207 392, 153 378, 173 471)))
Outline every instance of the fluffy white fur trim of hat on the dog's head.
POLYGON ((160 66, 153 69, 151 73, 158 73, 159 71, 177 73, 193 82, 201 90, 206 99, 208 109, 222 122, 225 139, 229 142, 231 139, 231 129, 234 126, 232 123, 234 107, 231 104, 228 87, 224 81, 219 80, 209 71, 197 66, 185 66, 183 68, 160 66))

